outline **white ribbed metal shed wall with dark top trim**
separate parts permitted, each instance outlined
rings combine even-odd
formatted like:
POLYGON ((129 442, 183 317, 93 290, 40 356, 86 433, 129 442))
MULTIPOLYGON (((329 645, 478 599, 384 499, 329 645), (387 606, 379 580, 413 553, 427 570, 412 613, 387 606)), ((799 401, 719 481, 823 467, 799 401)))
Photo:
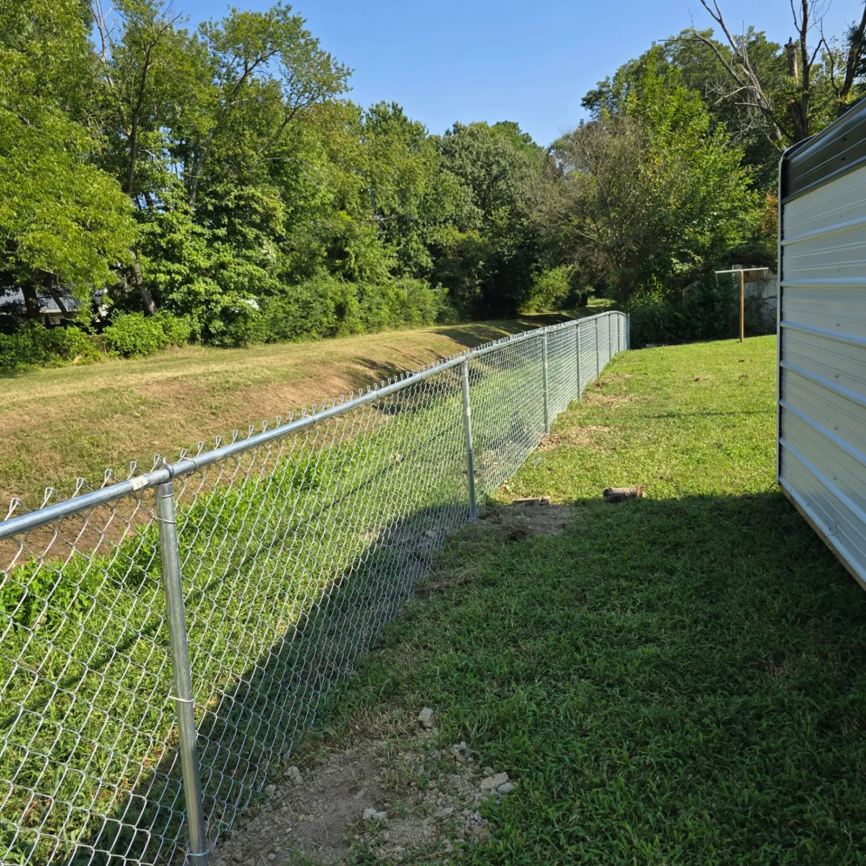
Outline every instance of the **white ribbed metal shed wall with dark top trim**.
POLYGON ((866 588, 866 102, 779 166, 779 485, 866 588))

